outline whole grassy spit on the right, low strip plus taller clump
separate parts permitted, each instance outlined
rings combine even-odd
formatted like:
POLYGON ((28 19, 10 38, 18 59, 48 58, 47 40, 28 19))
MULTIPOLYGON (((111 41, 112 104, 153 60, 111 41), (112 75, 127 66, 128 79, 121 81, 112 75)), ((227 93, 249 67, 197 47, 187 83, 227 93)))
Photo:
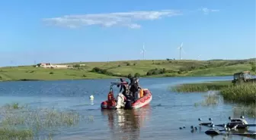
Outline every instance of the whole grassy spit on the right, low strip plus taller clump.
POLYGON ((223 99, 235 103, 254 104, 256 101, 256 83, 247 82, 233 85, 231 81, 200 82, 183 84, 171 88, 173 92, 219 91, 223 99))

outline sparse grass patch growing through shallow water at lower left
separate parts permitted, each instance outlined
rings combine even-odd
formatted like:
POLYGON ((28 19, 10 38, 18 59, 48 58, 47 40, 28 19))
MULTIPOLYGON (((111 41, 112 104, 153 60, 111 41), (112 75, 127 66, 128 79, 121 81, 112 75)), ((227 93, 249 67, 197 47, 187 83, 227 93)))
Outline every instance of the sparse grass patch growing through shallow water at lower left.
MULTIPOLYGON (((77 125, 85 120, 77 112, 50 109, 30 109, 18 104, 8 104, 0 108, 0 139, 3 140, 32 140, 52 139, 54 130, 62 127, 77 125), (50 135, 45 135, 50 134, 50 135), (43 138, 41 138, 43 136, 43 138)), ((86 119, 91 121, 91 118, 86 119)))

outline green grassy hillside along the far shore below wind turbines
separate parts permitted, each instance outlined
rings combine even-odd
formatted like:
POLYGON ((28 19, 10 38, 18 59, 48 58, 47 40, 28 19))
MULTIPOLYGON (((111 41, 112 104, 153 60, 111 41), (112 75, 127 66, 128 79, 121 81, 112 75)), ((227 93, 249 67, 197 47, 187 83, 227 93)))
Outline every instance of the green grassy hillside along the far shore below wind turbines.
POLYGON ((254 59, 237 61, 149 60, 69 63, 74 69, 45 69, 33 66, 1 67, 0 80, 105 79, 131 74, 144 77, 229 76, 251 70, 254 59), (85 64, 78 67, 78 64, 85 64), (95 69, 97 68, 97 69, 95 69))

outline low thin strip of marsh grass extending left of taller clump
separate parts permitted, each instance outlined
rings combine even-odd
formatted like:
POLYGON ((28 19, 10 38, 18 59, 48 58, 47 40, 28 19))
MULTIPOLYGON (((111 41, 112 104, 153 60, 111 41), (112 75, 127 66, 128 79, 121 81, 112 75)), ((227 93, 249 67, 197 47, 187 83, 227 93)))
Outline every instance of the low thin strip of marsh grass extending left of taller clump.
POLYGON ((225 89, 231 86, 231 81, 190 83, 171 87, 172 92, 207 92, 225 89))

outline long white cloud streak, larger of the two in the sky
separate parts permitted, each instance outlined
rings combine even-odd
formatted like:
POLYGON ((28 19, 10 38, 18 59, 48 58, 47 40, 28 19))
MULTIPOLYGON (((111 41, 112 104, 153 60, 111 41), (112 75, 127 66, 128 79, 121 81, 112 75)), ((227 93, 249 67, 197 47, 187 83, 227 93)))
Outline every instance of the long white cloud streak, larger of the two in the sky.
POLYGON ((47 25, 64 26, 69 28, 78 28, 80 26, 126 26, 132 29, 140 28, 139 20, 157 20, 162 17, 172 17, 182 15, 180 11, 162 10, 162 11, 131 11, 107 14, 82 14, 66 15, 63 17, 53 17, 43 19, 47 25))

